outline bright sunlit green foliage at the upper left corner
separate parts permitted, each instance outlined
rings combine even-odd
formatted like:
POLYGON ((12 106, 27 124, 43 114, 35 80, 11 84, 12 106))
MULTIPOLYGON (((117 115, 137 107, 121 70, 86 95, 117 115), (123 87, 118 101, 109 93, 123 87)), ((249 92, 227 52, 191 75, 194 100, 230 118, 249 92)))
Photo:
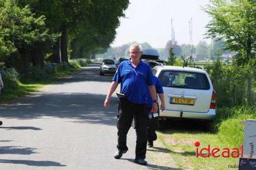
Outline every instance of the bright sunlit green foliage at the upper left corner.
POLYGON ((35 17, 28 5, 20 8, 15 0, 0 1, 0 60, 18 71, 29 62, 42 64, 43 55, 56 38, 49 34, 45 20, 45 16, 35 17))

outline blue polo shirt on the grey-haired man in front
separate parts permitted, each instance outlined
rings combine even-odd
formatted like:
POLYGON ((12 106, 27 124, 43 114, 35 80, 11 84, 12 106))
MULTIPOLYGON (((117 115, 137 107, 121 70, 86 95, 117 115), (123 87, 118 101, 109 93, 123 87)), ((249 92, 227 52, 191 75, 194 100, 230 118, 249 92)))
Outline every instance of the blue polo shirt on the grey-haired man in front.
POLYGON ((120 93, 125 94, 127 100, 147 104, 148 86, 154 84, 151 67, 140 60, 134 68, 130 60, 121 62, 112 80, 121 83, 120 93))

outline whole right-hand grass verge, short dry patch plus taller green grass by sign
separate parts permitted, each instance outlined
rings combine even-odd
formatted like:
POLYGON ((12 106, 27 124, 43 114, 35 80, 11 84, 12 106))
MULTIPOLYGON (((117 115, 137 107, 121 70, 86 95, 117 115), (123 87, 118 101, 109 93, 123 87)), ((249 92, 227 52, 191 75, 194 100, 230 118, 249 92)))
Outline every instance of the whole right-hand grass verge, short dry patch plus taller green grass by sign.
POLYGON ((212 125, 217 129, 215 133, 172 129, 157 132, 157 135, 181 169, 230 169, 229 165, 238 164, 238 158, 196 157, 194 143, 200 142, 199 149, 207 147, 208 144, 210 150, 220 148, 218 154, 221 154, 224 147, 230 149, 230 154, 232 148, 239 148, 240 151, 244 136, 244 125, 240 122, 246 119, 256 119, 255 106, 219 108, 217 118, 213 122, 215 125, 212 125))

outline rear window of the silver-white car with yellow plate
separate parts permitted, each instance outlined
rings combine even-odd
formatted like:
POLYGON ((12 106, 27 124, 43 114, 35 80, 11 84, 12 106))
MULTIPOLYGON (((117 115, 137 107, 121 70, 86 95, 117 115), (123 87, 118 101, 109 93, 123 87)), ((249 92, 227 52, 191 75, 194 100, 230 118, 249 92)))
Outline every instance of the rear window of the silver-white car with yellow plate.
POLYGON ((159 79, 163 87, 210 89, 207 76, 200 72, 163 70, 160 72, 159 79))

